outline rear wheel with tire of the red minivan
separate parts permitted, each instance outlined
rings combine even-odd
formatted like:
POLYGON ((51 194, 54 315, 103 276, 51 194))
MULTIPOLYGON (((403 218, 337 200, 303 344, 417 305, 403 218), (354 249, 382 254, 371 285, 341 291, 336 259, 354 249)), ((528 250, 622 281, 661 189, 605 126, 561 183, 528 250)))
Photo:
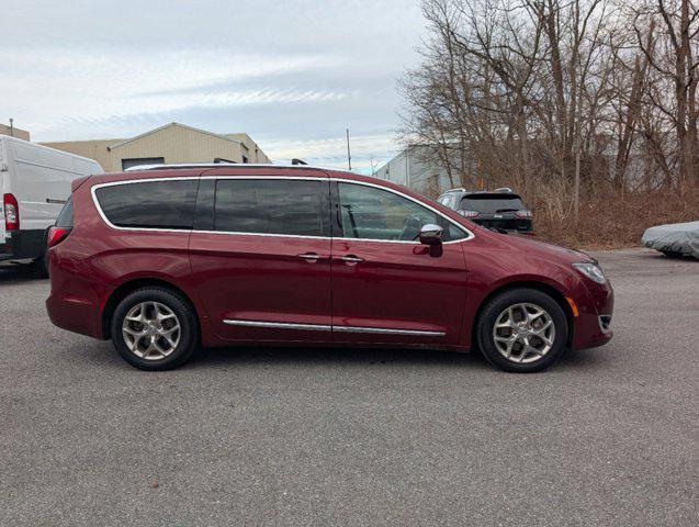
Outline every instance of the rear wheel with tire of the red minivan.
POLYGON ((126 295, 114 310, 111 332, 119 355, 142 370, 182 366, 199 347, 194 310, 165 288, 144 288, 126 295))

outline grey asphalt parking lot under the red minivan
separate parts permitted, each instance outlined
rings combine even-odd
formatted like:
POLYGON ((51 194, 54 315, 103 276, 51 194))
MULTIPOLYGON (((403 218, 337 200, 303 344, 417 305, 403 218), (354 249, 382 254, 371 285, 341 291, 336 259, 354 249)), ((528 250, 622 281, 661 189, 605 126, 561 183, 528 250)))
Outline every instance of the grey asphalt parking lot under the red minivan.
POLYGON ((696 526, 699 264, 596 256, 615 339, 533 375, 339 349, 146 373, 0 271, 0 525, 696 526))

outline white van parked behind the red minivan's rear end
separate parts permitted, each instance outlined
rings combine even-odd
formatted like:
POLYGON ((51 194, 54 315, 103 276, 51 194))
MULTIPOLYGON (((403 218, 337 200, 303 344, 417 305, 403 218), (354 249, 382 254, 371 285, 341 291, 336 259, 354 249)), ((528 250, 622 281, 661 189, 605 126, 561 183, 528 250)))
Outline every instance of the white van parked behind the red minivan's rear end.
POLYGON ((0 262, 33 260, 45 273, 46 232, 71 181, 102 172, 92 159, 0 135, 0 262))

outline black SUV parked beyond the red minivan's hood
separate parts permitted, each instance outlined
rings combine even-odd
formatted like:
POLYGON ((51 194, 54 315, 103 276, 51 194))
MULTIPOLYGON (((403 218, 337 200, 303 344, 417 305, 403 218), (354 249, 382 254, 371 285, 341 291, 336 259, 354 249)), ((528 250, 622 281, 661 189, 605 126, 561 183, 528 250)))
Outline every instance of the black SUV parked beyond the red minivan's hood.
POLYGON ((437 201, 484 227, 525 234, 533 231, 531 211, 511 189, 476 192, 453 189, 444 192, 437 201))

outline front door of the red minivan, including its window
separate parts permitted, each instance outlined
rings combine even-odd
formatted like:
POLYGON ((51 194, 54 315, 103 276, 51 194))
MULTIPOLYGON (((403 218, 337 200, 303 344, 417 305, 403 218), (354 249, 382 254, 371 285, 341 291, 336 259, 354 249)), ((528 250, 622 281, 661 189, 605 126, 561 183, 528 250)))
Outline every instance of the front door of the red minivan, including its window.
POLYGON ((462 242, 471 234, 406 194, 360 181, 332 184, 332 338, 454 345, 466 296, 462 242), (443 227, 439 250, 416 240, 443 227))

